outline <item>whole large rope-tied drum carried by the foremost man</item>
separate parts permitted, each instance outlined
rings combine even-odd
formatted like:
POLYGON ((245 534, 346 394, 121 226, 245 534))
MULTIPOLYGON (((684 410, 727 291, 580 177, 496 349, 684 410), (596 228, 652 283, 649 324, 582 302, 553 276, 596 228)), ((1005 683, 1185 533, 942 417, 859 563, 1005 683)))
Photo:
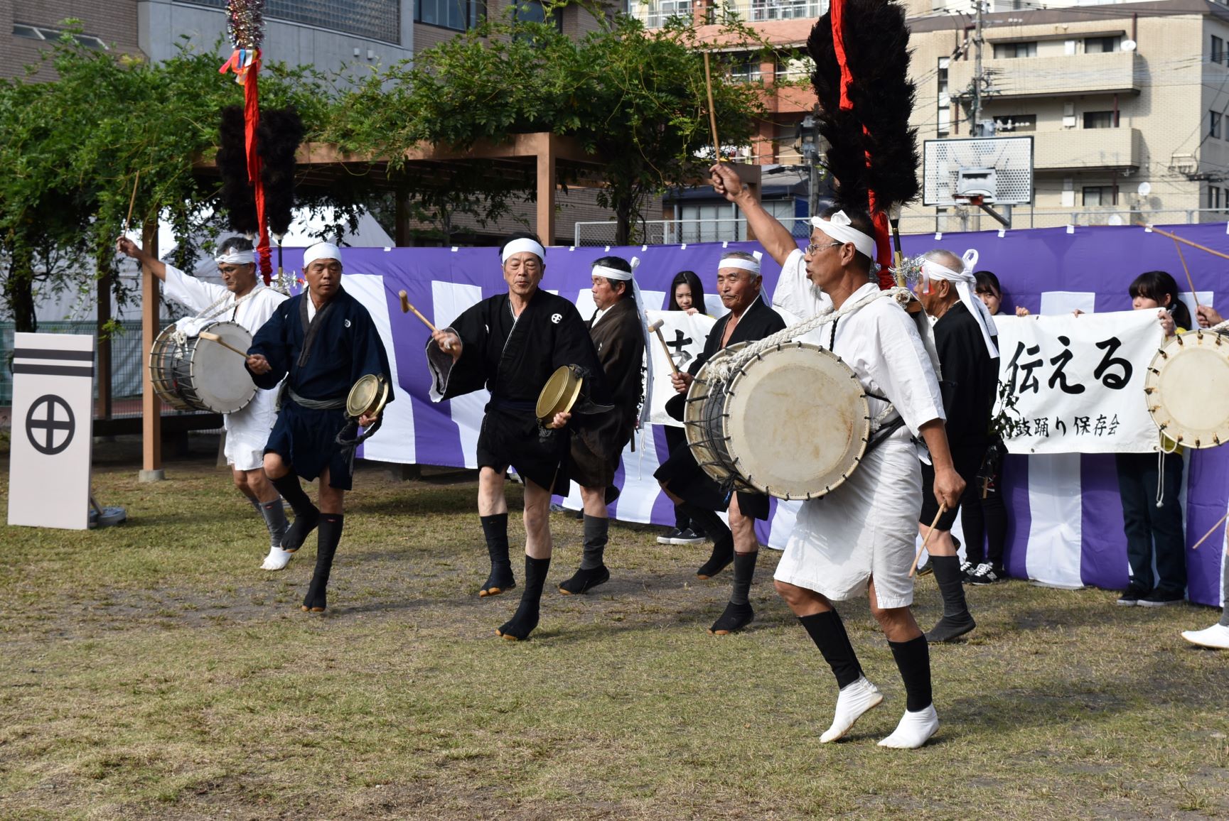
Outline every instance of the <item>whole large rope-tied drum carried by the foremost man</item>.
POLYGON ((723 487, 782 499, 826 496, 857 469, 871 433, 870 405, 838 356, 801 341, 760 351, 730 378, 709 360, 687 391, 683 426, 697 464, 723 487))

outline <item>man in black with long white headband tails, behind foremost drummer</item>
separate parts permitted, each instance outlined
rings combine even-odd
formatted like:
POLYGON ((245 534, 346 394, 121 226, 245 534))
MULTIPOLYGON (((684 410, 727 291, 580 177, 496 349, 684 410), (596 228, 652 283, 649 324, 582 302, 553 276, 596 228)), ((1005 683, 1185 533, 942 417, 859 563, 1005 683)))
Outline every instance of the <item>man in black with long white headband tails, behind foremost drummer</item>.
MULTIPOLYGON (((934 320, 934 345, 939 353, 943 407, 948 442, 956 472, 966 486, 977 482, 982 457, 989 445, 991 415, 998 395, 998 347, 994 324, 982 301, 973 296, 976 252, 971 260, 949 250, 923 255, 922 275, 914 291, 934 320)), ((943 595, 943 617, 929 632, 928 642, 950 642, 977 626, 965 601, 964 571, 951 538, 959 503, 939 515, 934 495, 934 468, 922 463, 922 513, 918 530, 925 536, 939 515, 928 550, 934 579, 943 595)), ((1002 572, 1002 568, 999 568, 1002 572)))

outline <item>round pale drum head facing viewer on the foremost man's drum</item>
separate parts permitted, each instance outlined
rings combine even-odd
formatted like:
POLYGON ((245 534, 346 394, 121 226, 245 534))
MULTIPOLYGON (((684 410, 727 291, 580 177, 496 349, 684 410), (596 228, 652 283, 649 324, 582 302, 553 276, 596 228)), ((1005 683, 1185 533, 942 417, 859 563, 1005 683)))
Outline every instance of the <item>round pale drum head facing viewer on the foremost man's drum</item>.
POLYGON ((806 342, 771 349, 730 380, 730 454, 753 487, 812 498, 853 472, 870 436, 870 407, 854 372, 806 342))

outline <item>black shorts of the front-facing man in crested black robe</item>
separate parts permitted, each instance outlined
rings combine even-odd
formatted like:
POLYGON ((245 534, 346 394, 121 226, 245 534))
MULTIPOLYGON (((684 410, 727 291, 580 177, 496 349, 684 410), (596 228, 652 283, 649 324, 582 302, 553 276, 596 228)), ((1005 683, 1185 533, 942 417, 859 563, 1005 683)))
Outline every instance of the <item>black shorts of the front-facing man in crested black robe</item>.
POLYGON ((511 465, 521 479, 567 496, 568 475, 563 463, 570 439, 567 428, 542 428, 531 410, 487 405, 478 433, 478 466, 504 472, 511 465))

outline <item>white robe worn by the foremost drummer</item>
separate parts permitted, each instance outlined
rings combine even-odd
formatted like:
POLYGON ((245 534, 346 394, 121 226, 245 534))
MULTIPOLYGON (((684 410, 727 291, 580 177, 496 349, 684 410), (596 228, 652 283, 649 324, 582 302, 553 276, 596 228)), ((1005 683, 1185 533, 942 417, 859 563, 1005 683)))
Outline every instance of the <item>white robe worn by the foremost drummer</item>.
MULTIPOLYGON (((868 282, 849 298, 878 287, 868 282)), ((803 252, 794 252, 782 269, 773 307, 809 319, 826 304, 827 296, 806 279, 803 252)), ((822 347, 832 339, 831 324, 806 336, 822 347)), ((837 320, 831 349, 868 394, 892 403, 905 426, 866 454, 839 487, 803 502, 775 578, 832 600, 863 595, 874 578, 880 607, 905 607, 913 603, 908 573, 922 509, 922 471, 911 438, 925 422, 944 418, 934 361, 913 318, 887 298, 837 320)), ((870 399, 871 417, 885 407, 870 399)))

